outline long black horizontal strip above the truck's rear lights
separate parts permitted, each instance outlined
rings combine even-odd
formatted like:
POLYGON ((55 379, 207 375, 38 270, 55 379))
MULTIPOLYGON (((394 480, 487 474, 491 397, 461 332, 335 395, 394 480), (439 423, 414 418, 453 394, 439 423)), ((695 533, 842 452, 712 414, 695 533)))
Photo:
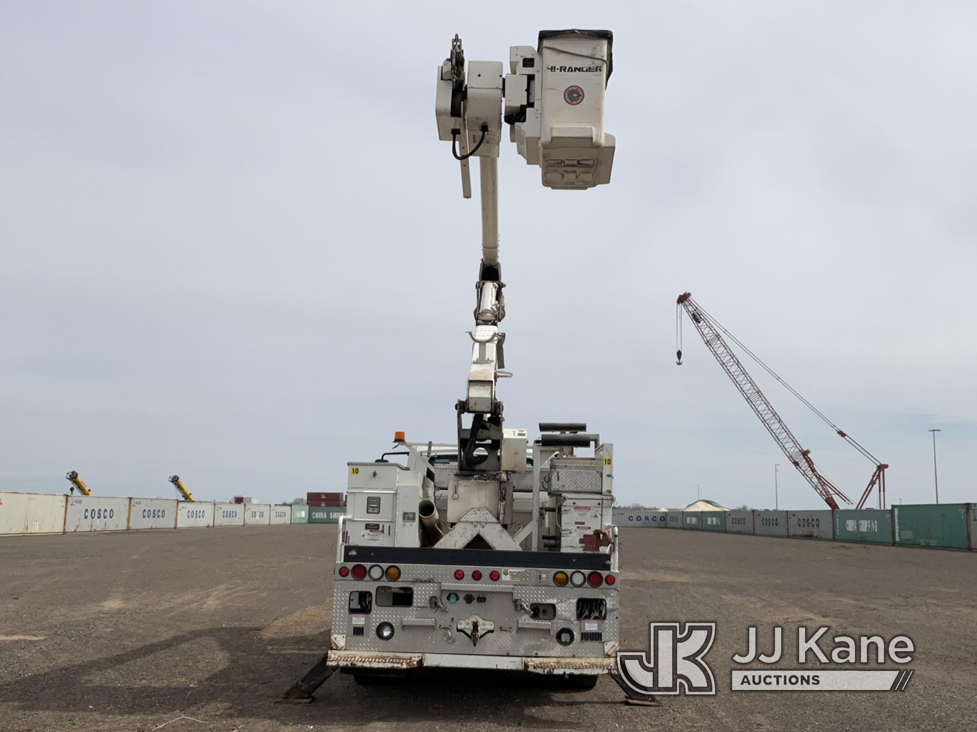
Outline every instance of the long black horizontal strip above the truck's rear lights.
POLYGON ((596 569, 607 572, 611 556, 599 551, 498 551, 495 549, 432 549, 430 547, 345 547, 344 562, 382 564, 450 564, 460 567, 535 567, 596 569))

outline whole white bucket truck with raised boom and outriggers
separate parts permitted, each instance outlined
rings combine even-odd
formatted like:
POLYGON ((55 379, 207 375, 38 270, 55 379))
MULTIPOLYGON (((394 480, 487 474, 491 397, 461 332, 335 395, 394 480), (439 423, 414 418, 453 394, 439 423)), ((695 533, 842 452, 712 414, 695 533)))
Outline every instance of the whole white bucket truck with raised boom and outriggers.
MULTIPOLYGON (((606 30, 539 33, 500 61, 465 61, 455 36, 438 67, 436 119, 471 197, 479 163, 482 257, 471 360, 455 404, 453 444, 407 441, 394 455, 347 464, 329 651, 285 694, 308 700, 333 671, 358 681, 412 669, 531 671, 576 688, 616 676, 620 612, 612 523, 614 446, 583 423, 504 427, 498 246, 498 155, 508 137, 541 183, 610 183, 615 139, 604 129, 612 71, 606 30)), ((549 204, 554 218, 572 200, 549 204), (555 205, 554 205, 555 203, 555 205), (559 208, 558 208, 559 207, 559 208)), ((584 224, 585 225, 585 224, 584 224)), ((557 233, 559 235, 559 233, 557 233)))

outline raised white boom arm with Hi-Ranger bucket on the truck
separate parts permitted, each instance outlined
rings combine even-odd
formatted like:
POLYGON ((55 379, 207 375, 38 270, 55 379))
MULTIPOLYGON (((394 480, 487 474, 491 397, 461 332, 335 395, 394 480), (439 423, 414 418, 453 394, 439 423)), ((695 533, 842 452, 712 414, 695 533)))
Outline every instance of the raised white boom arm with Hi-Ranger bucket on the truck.
POLYGON ((502 402, 505 317, 498 260, 498 155, 503 120, 509 139, 551 188, 610 183, 615 139, 604 132, 604 91, 611 75, 613 35, 606 30, 541 31, 538 47, 509 49, 509 70, 499 61, 465 61, 455 35, 438 67, 435 116, 438 136, 451 142, 461 165, 461 191, 471 197, 468 160, 479 159, 482 263, 475 285, 475 329, 465 398, 458 400, 458 465, 464 472, 497 472, 502 402), (584 61, 586 63, 584 64, 584 61), (503 110, 505 116, 503 118, 503 110), (466 416, 470 415, 470 424, 466 416))

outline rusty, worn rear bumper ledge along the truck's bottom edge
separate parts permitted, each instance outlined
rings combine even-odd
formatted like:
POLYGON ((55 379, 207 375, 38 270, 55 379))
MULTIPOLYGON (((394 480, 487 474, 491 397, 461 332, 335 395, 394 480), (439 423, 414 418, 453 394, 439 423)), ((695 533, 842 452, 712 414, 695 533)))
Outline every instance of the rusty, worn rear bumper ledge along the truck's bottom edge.
POLYGON ((326 662, 340 669, 480 669, 531 671, 545 674, 599 674, 615 671, 616 658, 541 658, 537 656, 476 656, 460 653, 370 653, 329 651, 326 662))

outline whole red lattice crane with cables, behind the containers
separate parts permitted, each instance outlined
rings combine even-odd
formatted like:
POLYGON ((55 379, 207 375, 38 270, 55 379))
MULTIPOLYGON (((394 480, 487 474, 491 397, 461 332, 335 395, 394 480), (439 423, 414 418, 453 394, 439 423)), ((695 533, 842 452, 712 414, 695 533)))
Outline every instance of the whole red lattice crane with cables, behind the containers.
POLYGON ((811 487, 817 491, 818 495, 824 499, 825 503, 828 504, 833 510, 837 510, 838 504, 835 498, 840 499, 846 504, 851 504, 851 501, 838 490, 828 478, 814 465, 814 461, 811 460, 811 451, 805 450, 801 447, 797 438, 794 437, 793 433, 781 419, 781 416, 777 414, 777 410, 774 409, 773 405, 764 395, 763 391, 760 390, 759 386, 756 386, 756 382, 747 373, 740 359, 737 358, 736 353, 733 349, 726 343, 723 339, 722 334, 726 334, 731 341, 733 341, 737 346, 740 346, 744 352, 746 352, 750 358, 756 361, 764 370, 773 376, 777 381, 786 386, 787 390, 790 391, 794 396, 800 399, 808 408, 810 408, 816 415, 818 415, 822 420, 825 421, 835 433, 841 436, 846 442, 852 445, 856 450, 858 450, 862 455, 871 460, 875 464, 875 471, 871 475, 871 480, 869 485, 866 487, 865 491, 862 493, 862 498, 858 502, 856 508, 863 508, 866 501, 871 495, 872 489, 878 486, 878 508, 885 508, 885 468, 888 468, 884 463, 880 463, 868 450, 866 450, 862 445, 852 439, 848 434, 846 434, 837 425, 828 420, 825 415, 823 415, 817 408, 814 407, 807 399, 801 396, 797 391, 790 385, 788 385, 781 377, 774 373, 774 371, 767 366, 763 361, 761 361, 749 348, 743 346, 743 344, 728 330, 726 330, 722 325, 716 321, 711 315, 709 315, 705 310, 702 309, 696 301, 692 299, 692 293, 684 293, 678 297, 678 322, 676 324, 676 336, 678 338, 678 351, 676 356, 678 358, 677 363, 681 365, 682 363, 682 311, 689 314, 692 319, 693 324, 696 326, 696 330, 699 331, 699 335, 702 338, 702 342, 705 344, 711 352, 712 355, 716 357, 719 365, 723 367, 723 371, 730 378, 733 384, 740 389, 740 393, 743 394, 743 398, 746 403, 749 404, 753 413, 760 418, 760 422, 763 426, 767 428, 770 435, 774 438, 778 445, 780 445, 781 450, 784 451, 786 458, 790 461, 790 465, 797 468, 797 471, 803 475, 804 479, 811 484, 811 487))

